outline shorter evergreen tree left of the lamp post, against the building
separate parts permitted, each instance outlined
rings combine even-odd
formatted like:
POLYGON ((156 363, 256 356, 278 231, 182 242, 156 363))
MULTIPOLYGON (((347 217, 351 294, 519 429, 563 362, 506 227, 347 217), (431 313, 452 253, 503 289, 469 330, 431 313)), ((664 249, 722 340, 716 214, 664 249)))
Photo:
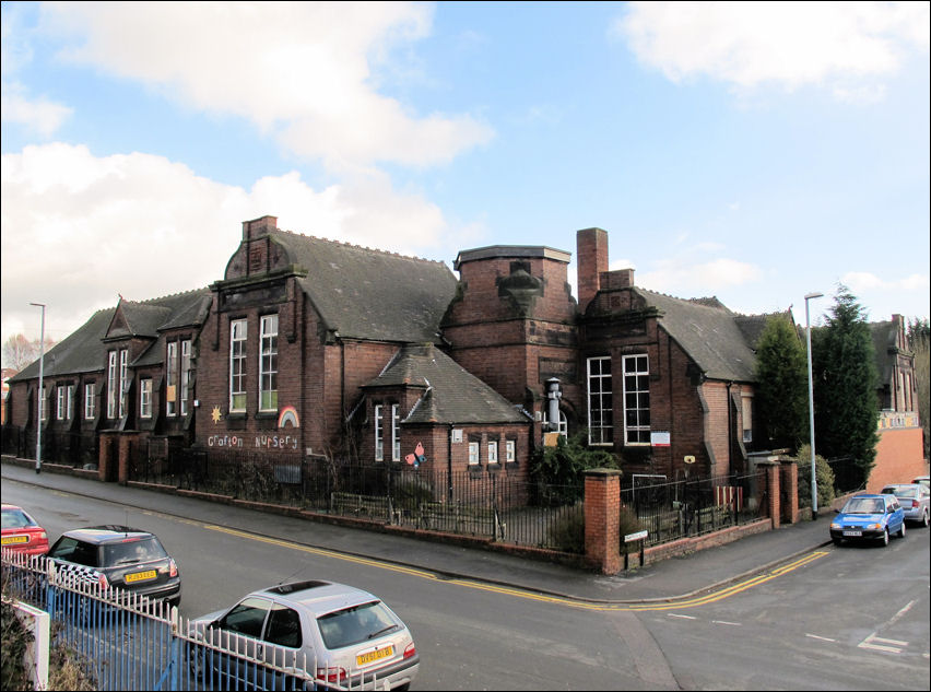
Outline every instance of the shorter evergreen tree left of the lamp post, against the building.
POLYGON ((756 412, 770 448, 794 451, 808 439, 808 360, 787 316, 767 319, 757 344, 756 412))

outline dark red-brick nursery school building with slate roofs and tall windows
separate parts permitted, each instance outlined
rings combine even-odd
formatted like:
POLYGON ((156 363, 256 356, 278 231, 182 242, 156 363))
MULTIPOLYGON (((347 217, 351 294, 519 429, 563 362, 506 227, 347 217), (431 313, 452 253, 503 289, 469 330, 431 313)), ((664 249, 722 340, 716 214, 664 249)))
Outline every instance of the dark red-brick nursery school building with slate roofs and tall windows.
POLYGON ((544 433, 585 432, 631 472, 745 470, 766 316, 608 271, 608 234, 570 254, 496 245, 435 261, 243 224, 212 285, 120 300, 11 378, 10 425, 150 457, 191 445, 413 461, 523 477, 544 433), (554 419, 551 423, 550 419, 554 419))

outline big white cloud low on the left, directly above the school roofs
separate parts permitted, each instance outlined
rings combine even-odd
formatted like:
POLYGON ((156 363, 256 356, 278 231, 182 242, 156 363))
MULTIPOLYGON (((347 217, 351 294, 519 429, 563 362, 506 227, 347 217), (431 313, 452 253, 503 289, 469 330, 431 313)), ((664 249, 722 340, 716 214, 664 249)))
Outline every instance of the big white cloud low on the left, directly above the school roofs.
POLYGON ((61 339, 93 310, 115 305, 118 293, 149 300, 207 286, 223 277, 241 222, 264 214, 284 230, 390 243, 412 255, 463 234, 435 204, 392 189, 384 176, 315 190, 290 173, 247 190, 162 156, 27 146, 2 156, 2 340, 24 325, 35 327, 31 336, 38 329, 31 302, 48 305, 47 326, 61 339))

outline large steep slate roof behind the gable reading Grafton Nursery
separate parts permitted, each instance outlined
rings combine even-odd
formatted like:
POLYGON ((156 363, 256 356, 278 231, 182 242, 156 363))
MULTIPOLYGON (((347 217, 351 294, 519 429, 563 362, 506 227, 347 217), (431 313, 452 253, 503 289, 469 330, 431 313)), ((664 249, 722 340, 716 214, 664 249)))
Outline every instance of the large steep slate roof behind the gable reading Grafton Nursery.
POLYGON ((436 341, 457 284, 443 262, 280 230, 269 235, 307 271, 298 281, 340 337, 436 341))

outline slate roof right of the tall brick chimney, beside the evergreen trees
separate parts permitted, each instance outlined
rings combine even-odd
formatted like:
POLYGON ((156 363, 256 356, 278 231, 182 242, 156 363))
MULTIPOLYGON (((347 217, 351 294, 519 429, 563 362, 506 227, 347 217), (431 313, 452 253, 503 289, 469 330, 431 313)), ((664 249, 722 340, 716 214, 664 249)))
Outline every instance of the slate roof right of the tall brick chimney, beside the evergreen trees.
POLYGON ((717 298, 683 300, 639 286, 632 291, 656 307, 659 324, 695 361, 706 377, 755 382, 753 345, 765 315, 739 315, 717 298))

